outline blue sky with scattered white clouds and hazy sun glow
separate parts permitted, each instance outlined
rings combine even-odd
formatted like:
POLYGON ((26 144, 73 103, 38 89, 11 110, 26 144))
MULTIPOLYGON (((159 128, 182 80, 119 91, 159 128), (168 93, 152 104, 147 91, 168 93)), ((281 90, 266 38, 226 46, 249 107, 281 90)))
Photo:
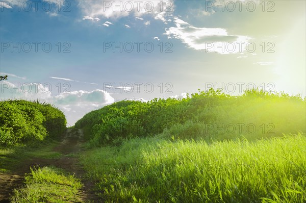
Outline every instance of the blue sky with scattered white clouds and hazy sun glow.
POLYGON ((305 96, 305 1, 1 1, 0 98, 69 125, 122 99, 258 87, 305 96))

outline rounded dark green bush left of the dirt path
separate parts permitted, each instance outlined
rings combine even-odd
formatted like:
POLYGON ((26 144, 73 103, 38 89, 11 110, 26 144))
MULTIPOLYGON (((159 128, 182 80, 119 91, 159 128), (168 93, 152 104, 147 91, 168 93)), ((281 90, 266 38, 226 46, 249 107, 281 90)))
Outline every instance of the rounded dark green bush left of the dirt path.
POLYGON ((6 100, 0 109, 0 145, 35 143, 60 136, 66 129, 63 112, 49 104, 6 100))

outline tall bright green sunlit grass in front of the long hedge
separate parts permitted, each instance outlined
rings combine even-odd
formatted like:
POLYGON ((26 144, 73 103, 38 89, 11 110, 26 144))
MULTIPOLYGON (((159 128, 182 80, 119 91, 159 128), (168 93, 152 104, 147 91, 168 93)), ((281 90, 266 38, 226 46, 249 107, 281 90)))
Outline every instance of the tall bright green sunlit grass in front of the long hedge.
POLYGON ((305 202, 304 134, 246 139, 132 139, 83 155, 106 202, 305 202))

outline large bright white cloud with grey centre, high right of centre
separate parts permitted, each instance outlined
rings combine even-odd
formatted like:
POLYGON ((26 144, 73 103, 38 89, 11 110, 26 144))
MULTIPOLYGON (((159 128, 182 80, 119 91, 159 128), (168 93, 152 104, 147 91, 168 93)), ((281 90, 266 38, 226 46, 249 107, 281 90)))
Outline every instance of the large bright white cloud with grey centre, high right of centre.
POLYGON ((219 54, 242 53, 249 37, 228 35, 222 28, 196 28, 188 22, 174 17, 176 27, 166 29, 168 38, 180 39, 183 43, 196 50, 219 54))

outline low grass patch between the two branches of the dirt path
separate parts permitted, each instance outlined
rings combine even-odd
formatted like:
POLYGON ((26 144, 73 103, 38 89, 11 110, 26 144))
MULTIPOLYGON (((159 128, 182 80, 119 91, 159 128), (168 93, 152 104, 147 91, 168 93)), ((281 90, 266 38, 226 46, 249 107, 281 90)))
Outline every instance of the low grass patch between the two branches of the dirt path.
POLYGON ((31 169, 25 176, 25 187, 15 189, 11 202, 80 202, 83 186, 73 175, 55 167, 31 169))

